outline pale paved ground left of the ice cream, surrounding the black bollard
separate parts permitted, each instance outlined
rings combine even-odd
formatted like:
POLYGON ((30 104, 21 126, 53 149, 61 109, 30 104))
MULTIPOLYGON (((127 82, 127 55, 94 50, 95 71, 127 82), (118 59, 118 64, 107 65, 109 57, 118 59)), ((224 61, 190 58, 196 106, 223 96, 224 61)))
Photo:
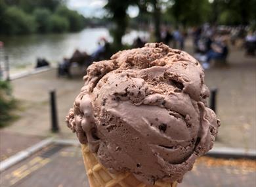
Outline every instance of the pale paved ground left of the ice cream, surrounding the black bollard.
POLYGON ((12 81, 13 95, 20 100, 20 109, 17 111, 20 119, 5 128, 5 131, 22 135, 53 135, 51 134, 49 91, 55 89, 60 126, 58 136, 75 138, 66 127, 65 117, 83 85, 82 73, 77 71, 76 73, 79 76, 73 79, 57 78, 56 70, 53 69, 12 81))

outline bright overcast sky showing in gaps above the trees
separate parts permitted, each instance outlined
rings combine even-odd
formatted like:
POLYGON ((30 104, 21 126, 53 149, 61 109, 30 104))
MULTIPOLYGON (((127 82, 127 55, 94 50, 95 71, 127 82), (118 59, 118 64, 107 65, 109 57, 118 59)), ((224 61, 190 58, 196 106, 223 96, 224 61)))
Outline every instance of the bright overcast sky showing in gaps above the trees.
MULTIPOLYGON (((102 17, 106 14, 103 7, 107 0, 68 0, 68 7, 72 10, 77 10, 85 17, 102 17)), ((138 7, 129 7, 127 13, 131 17, 136 17, 139 14, 138 7)))

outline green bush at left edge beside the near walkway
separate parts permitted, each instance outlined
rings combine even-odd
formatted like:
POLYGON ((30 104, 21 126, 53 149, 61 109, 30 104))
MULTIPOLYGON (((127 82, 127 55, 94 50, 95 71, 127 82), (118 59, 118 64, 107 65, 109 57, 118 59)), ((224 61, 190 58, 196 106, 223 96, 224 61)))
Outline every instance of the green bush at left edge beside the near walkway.
POLYGON ((0 127, 7 125, 12 119, 10 114, 15 106, 15 100, 11 96, 9 82, 0 80, 0 127))

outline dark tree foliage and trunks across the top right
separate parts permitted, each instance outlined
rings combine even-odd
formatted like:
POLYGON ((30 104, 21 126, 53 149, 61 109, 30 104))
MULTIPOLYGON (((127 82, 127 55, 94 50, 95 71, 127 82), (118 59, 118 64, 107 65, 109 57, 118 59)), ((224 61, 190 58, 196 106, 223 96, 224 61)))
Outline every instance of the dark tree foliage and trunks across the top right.
MULTIPOLYGON (((129 25, 127 9, 139 7, 139 18, 154 24, 155 41, 160 41, 160 25, 199 26, 204 22, 224 25, 247 25, 256 20, 256 0, 108 0, 106 10, 114 23, 114 45, 121 46, 121 37, 129 25)), ((139 23, 137 23, 137 26, 139 23)), ((136 22, 133 21, 133 26, 136 22)))

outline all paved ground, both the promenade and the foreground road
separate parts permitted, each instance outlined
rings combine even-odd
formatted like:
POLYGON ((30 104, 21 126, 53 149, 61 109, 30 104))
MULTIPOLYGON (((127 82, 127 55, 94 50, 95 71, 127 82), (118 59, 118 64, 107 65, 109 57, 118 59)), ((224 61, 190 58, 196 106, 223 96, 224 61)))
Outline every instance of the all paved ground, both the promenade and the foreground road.
MULTIPOLYGON (((190 45, 187 43, 188 52, 190 45)), ((218 89, 217 115, 221 119, 221 128, 215 147, 256 150, 255 70, 256 58, 245 57, 242 51, 234 50, 228 56, 228 66, 205 71, 206 84, 210 89, 218 89)), ((57 78, 53 69, 11 81, 13 95, 19 100, 16 115, 20 117, 0 130, 0 161, 47 137, 76 140, 64 119, 83 85, 85 70, 72 71, 72 79, 57 78), (60 133, 56 134, 51 133, 49 106, 49 91, 53 89, 60 127, 60 133)), ((236 161, 202 157, 179 187, 255 186, 256 161, 236 161)), ((1 173, 0 186, 33 184, 38 187, 88 186, 79 148, 53 144, 1 173), (58 146, 61 148, 54 148, 58 146)))

